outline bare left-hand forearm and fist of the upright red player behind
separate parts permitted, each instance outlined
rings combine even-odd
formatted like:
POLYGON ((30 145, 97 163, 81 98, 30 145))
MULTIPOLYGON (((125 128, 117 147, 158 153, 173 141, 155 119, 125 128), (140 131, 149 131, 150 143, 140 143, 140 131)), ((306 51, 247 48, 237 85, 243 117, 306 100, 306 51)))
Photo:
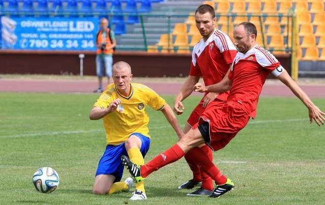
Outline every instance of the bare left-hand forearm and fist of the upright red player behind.
POLYGON ((184 82, 181 91, 176 95, 175 101, 174 101, 174 111, 177 115, 180 115, 183 113, 184 106, 182 104, 182 101, 188 97, 193 89, 192 87, 198 83, 200 80, 200 76, 188 76, 186 81, 184 82))

